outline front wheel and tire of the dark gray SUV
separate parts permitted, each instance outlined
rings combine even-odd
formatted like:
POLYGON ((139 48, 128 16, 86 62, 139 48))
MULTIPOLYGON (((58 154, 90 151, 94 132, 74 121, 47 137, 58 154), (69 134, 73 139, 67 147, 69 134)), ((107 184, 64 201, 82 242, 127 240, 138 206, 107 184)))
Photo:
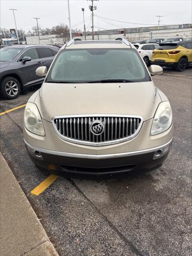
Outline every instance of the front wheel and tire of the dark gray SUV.
POLYGON ((7 76, 1 81, 1 94, 3 98, 12 100, 18 98, 21 93, 21 85, 19 81, 12 77, 7 76))

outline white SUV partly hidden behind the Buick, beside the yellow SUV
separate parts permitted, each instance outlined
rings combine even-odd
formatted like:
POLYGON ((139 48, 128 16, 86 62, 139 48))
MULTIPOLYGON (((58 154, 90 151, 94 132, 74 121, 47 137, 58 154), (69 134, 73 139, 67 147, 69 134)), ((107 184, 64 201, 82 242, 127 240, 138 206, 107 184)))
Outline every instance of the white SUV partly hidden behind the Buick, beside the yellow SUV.
POLYGON ((145 61, 146 65, 150 65, 153 50, 157 49, 158 44, 134 44, 141 57, 145 61))

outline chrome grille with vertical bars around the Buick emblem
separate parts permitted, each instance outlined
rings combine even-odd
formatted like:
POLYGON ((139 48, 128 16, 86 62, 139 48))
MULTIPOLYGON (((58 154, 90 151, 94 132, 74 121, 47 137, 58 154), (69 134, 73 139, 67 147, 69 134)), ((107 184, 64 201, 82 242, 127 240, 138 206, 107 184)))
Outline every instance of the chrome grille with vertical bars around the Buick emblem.
POLYGON ((64 140, 82 145, 103 146, 134 138, 142 126, 142 117, 126 115, 59 116, 52 119, 54 130, 64 140), (104 125, 103 133, 91 132, 92 122, 104 125))

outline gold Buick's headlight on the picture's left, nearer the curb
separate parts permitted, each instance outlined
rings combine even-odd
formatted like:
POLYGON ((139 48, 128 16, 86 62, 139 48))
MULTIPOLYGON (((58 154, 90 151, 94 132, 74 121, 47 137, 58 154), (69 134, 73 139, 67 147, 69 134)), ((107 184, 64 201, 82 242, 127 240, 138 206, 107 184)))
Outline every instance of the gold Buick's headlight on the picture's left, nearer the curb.
POLYGON ((37 106, 28 102, 24 112, 24 124, 29 132, 45 136, 45 131, 37 106))

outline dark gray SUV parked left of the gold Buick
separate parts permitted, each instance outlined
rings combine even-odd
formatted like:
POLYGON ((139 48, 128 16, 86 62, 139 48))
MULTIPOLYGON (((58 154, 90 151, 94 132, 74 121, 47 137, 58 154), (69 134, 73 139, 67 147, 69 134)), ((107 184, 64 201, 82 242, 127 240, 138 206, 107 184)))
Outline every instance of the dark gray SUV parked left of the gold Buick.
POLYGON ((50 67, 58 47, 50 45, 14 45, 0 50, 0 93, 5 99, 15 99, 26 87, 42 84, 36 75, 40 66, 50 67))

